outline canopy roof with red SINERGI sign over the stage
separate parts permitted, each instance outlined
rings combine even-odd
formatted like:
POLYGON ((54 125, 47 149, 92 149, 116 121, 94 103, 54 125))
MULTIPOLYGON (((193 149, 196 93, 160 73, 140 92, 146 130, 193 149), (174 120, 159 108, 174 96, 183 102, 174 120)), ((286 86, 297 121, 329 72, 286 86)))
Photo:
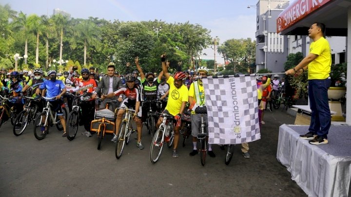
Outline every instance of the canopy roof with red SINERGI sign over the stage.
POLYGON ((326 36, 347 36, 351 0, 296 0, 276 20, 281 35, 308 35, 314 22, 326 25, 326 36))

